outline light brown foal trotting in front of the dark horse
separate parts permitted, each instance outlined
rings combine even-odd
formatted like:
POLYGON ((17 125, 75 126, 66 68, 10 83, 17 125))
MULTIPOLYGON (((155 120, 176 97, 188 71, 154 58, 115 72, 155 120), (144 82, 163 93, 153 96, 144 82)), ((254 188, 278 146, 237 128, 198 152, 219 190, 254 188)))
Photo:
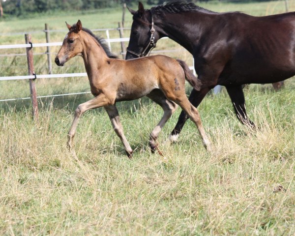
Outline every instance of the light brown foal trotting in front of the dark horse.
POLYGON ((185 94, 185 79, 196 90, 200 89, 200 84, 183 61, 160 55, 133 60, 117 59, 101 38, 93 35, 89 29, 82 28, 80 20, 76 25, 66 25, 69 32, 63 40, 55 62, 63 66, 76 55, 82 56, 91 93, 94 95, 93 99, 80 104, 75 111, 68 133, 69 148, 72 147, 78 120, 82 114, 90 109, 104 107, 127 156, 131 157, 133 150, 124 136, 115 104, 118 101, 134 100, 143 96, 148 96, 164 110, 163 117, 150 134, 149 145, 153 152, 158 150, 156 139, 166 121, 177 109, 177 104, 198 127, 205 148, 210 148, 199 112, 191 105, 185 94))

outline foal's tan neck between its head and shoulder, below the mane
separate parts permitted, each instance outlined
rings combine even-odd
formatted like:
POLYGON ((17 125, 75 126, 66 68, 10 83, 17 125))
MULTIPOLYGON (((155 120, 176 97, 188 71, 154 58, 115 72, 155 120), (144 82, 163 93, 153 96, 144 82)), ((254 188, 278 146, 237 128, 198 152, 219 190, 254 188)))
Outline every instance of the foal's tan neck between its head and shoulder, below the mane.
POLYGON ((91 77, 97 75, 101 67, 106 64, 108 56, 103 48, 95 42, 95 39, 88 36, 84 40, 83 59, 89 80, 91 80, 91 77))

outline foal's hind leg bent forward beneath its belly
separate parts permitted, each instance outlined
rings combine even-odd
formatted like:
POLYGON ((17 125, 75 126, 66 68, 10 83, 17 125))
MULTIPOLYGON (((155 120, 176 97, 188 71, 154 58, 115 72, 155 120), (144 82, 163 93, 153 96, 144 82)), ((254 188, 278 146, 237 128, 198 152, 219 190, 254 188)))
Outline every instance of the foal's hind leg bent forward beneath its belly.
POLYGON ((149 97, 151 100, 159 104, 163 110, 164 115, 161 118, 160 122, 157 124, 157 126, 153 129, 153 131, 150 133, 150 139, 149 139, 149 147, 151 148, 152 152, 155 152, 158 150, 160 154, 161 151, 158 149, 158 146, 156 144, 156 140, 159 136, 160 131, 162 130, 163 126, 167 122, 167 120, 172 116, 172 114, 177 109, 177 104, 175 104, 172 101, 169 101, 164 93, 160 89, 154 89, 152 90, 147 97, 149 97))

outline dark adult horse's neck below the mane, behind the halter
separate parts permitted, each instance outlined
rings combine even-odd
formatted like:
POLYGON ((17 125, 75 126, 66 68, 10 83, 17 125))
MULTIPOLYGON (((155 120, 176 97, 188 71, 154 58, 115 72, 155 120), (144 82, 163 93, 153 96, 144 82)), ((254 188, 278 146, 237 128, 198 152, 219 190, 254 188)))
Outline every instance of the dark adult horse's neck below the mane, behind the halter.
POLYGON ((199 44, 199 39, 204 36, 206 31, 204 25, 207 27, 211 25, 205 17, 206 13, 204 12, 193 12, 189 15, 185 15, 185 13, 164 15, 159 21, 159 26, 163 30, 162 36, 171 38, 193 54, 193 49, 199 44))

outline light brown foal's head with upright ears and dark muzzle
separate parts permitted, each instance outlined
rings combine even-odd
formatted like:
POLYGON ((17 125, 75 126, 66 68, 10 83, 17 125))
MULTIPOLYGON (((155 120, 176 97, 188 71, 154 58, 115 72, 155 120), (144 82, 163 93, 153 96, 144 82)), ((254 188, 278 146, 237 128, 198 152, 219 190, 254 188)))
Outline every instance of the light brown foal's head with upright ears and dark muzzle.
POLYGON ((63 39, 62 46, 59 49, 59 53, 55 59, 55 62, 59 66, 69 59, 75 57, 76 55, 82 56, 83 45, 80 37, 82 30, 82 23, 79 20, 73 27, 66 23, 69 32, 65 35, 63 39))

